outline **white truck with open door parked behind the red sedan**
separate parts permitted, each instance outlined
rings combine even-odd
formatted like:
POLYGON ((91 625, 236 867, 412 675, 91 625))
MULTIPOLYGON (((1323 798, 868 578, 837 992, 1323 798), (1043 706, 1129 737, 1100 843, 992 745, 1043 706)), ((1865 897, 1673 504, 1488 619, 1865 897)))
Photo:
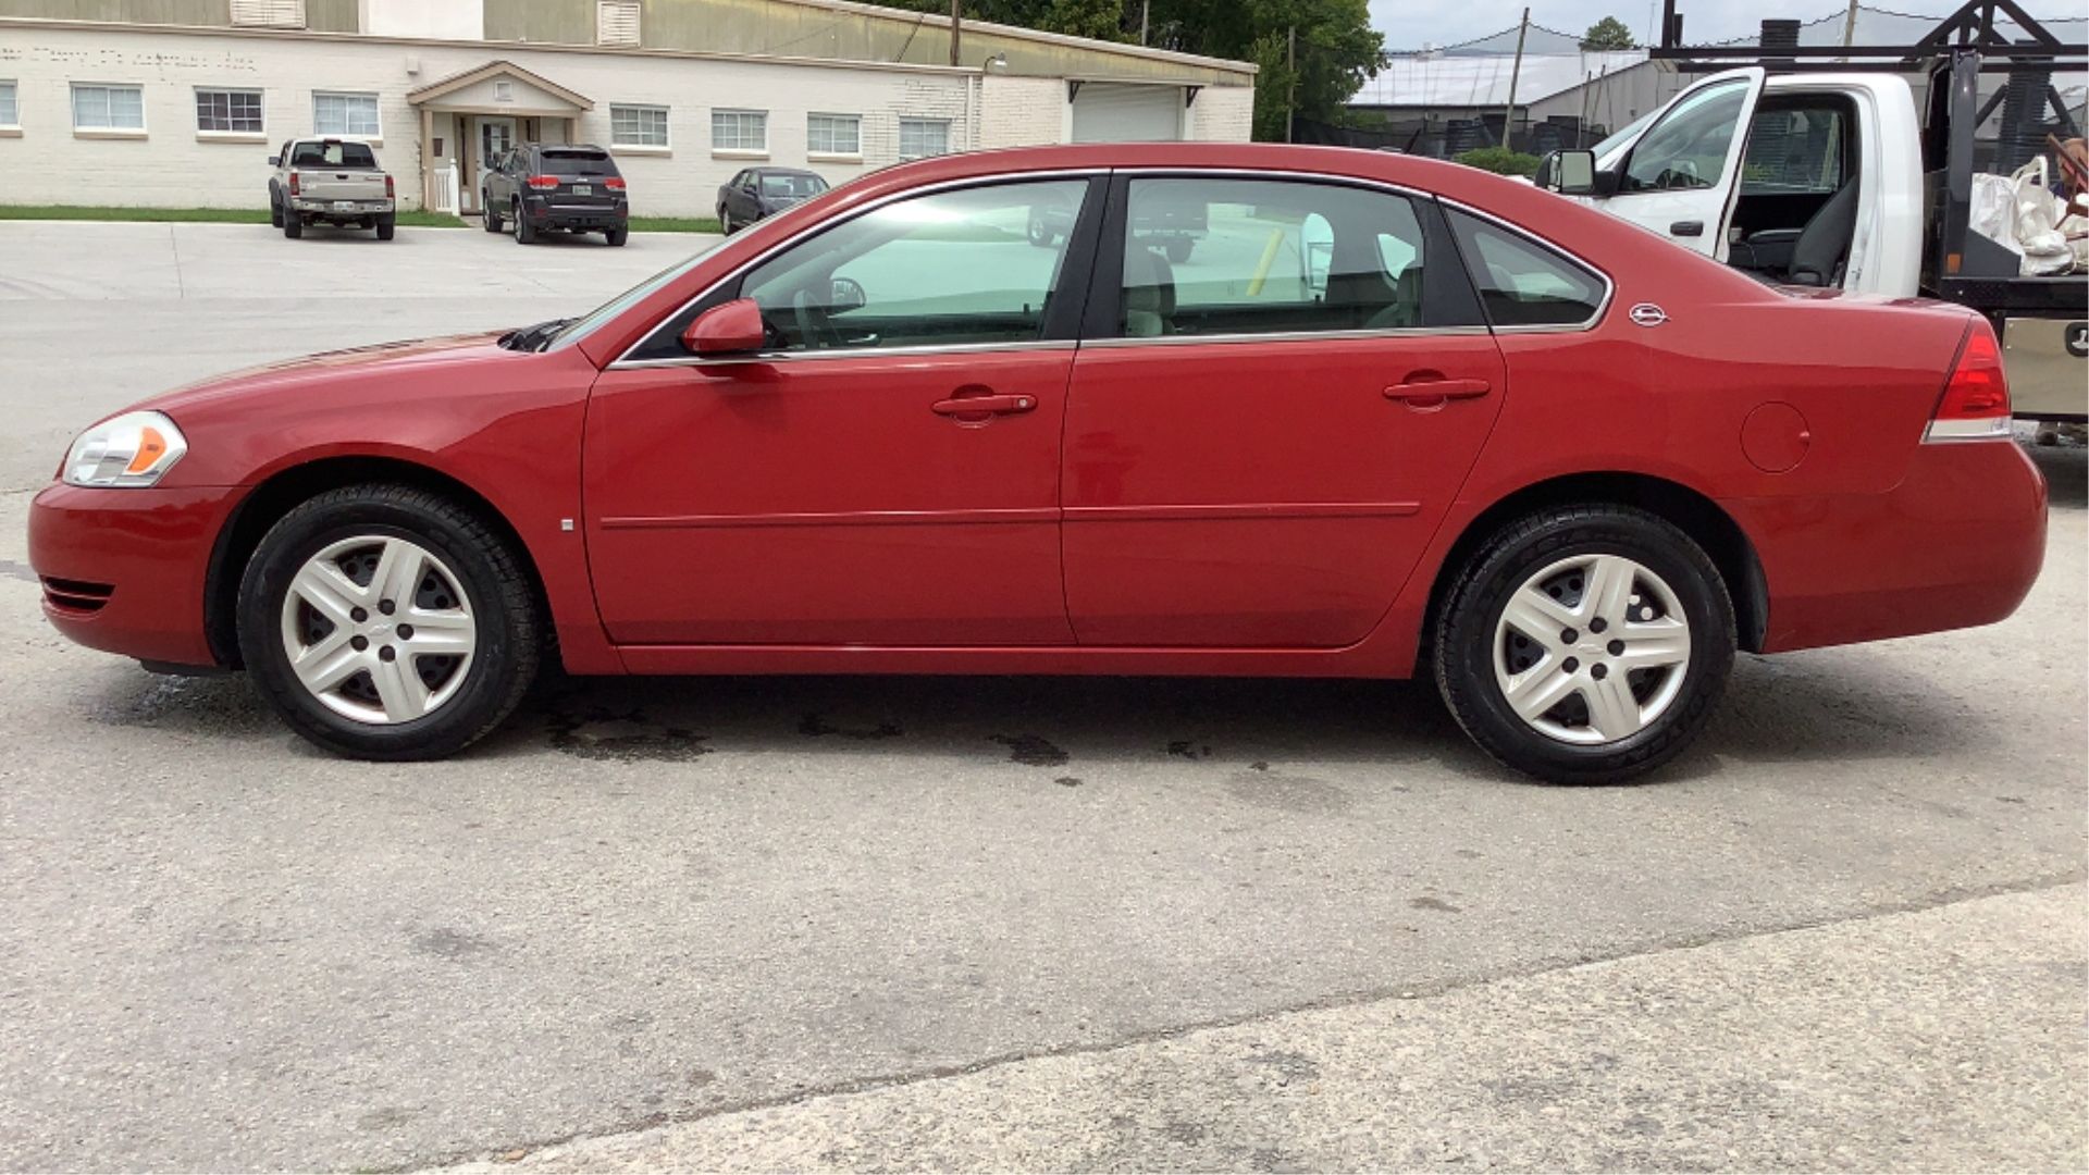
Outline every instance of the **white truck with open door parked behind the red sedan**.
POLYGON ((2003 339, 2016 414, 2079 422, 2089 274, 2020 276, 2016 253, 1968 228, 1976 163, 2012 165, 1980 65, 1951 52, 1918 75, 1922 113, 1895 71, 1711 73, 1592 151, 1546 155, 1535 182, 1763 280, 1978 309, 2003 339))

